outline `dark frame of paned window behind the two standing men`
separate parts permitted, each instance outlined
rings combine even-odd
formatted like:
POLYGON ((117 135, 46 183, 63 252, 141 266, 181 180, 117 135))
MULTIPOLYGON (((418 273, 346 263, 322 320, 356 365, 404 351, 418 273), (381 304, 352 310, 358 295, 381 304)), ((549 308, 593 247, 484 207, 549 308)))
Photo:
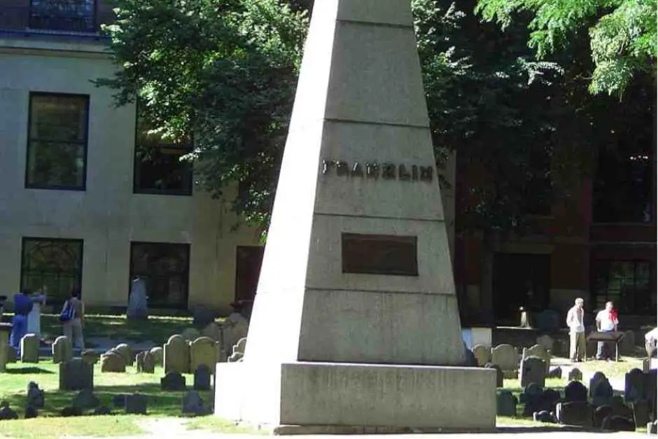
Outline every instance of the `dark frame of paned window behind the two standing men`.
MULTIPOLYGON (((596 309, 599 309, 597 304, 599 296, 602 296, 605 300, 603 302, 607 302, 609 300, 612 300, 612 302, 615 303, 615 307, 620 307, 619 302, 631 302, 632 308, 629 308, 629 311, 625 311, 626 314, 631 314, 631 315, 648 315, 647 313, 653 312, 653 309, 651 305, 647 309, 640 309, 638 305, 638 265, 640 264, 647 264, 649 267, 649 287, 647 288, 647 293, 651 294, 652 291, 652 284, 655 284, 655 279, 656 279, 656 271, 655 271, 655 262, 652 260, 647 260, 647 259, 636 259, 636 258, 622 258, 622 259, 596 259, 591 261, 591 281, 590 281, 590 298, 591 302, 596 307, 596 309), (629 298, 629 300, 624 300, 624 294, 623 290, 619 290, 619 294, 615 295, 615 297, 610 296, 610 266, 613 263, 631 263, 633 266, 633 293, 632 297, 629 298), (598 294, 598 283, 597 279, 598 276, 597 274, 600 272, 599 267, 605 267, 605 292, 604 294, 599 295, 598 294), (597 270, 599 269, 599 270, 597 270)), ((649 304, 650 304, 651 299, 649 298, 649 304)))

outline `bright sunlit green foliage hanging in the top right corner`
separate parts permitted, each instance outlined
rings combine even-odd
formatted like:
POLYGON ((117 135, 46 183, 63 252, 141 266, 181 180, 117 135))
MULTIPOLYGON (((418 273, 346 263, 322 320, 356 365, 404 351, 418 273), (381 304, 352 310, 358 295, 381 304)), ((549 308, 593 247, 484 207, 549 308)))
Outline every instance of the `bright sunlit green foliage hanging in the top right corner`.
POLYGON ((589 90, 622 95, 634 76, 656 75, 656 0, 479 0, 476 11, 503 29, 528 13, 528 45, 538 57, 568 46, 589 28, 595 68, 589 90))

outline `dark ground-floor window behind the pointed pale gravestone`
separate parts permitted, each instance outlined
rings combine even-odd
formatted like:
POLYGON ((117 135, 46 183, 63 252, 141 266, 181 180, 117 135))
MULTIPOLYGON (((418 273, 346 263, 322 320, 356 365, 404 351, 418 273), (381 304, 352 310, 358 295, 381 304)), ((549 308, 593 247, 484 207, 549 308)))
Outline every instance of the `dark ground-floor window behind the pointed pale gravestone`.
POLYGON ((148 305, 181 308, 188 305, 189 244, 133 242, 130 277, 146 281, 148 305))

